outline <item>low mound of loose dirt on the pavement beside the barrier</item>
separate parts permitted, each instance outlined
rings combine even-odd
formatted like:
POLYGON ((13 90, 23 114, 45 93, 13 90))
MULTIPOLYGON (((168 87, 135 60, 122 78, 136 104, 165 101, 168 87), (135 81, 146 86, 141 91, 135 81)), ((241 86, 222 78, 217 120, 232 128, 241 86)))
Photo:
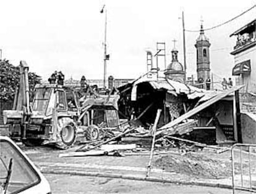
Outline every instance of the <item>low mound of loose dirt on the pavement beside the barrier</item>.
POLYGON ((156 160, 156 166, 165 171, 186 174, 192 177, 223 179, 232 174, 231 164, 212 160, 207 156, 187 153, 184 156, 167 155, 156 160))

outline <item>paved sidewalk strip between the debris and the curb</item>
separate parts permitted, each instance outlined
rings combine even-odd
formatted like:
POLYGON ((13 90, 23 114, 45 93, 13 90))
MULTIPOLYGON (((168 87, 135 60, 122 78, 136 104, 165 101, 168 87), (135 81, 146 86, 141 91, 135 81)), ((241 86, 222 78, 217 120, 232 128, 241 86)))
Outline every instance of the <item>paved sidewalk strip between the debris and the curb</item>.
POLYGON ((231 177, 227 179, 196 179, 176 172, 151 169, 146 177, 147 168, 131 166, 108 166, 98 164, 35 162, 45 174, 69 174, 76 176, 112 177, 130 180, 147 180, 171 184, 199 185, 205 187, 232 188, 231 177))

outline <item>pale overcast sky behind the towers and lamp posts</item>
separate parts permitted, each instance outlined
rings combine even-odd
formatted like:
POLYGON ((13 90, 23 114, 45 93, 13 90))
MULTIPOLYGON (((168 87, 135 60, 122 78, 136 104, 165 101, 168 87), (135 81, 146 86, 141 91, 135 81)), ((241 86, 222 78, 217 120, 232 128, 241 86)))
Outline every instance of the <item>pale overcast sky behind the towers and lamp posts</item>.
MULTIPOLYGON (((182 10, 185 28, 199 30, 223 23, 256 4, 256 0, 1 0, 0 49, 13 65, 25 60, 30 71, 48 77, 61 70, 66 79, 103 79, 103 41, 107 10, 107 76, 137 78, 147 71, 146 50, 166 42, 167 64, 173 39, 183 61, 182 10)), ((209 38, 211 72, 230 77, 236 44, 231 33, 255 19, 256 9, 233 22, 205 31, 209 38)), ((196 74, 195 39, 186 32, 187 75, 196 74)), ((155 62, 155 61, 154 61, 155 62)), ((163 70, 163 65, 160 67, 163 70)))

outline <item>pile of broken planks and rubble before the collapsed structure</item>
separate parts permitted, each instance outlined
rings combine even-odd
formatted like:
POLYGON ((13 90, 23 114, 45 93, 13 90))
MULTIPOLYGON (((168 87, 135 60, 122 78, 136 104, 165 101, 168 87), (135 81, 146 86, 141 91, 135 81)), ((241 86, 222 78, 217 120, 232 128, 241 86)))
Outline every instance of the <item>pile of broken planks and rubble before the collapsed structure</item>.
MULTIPOLYGON (((157 122, 157 120, 156 120, 157 122)), ((137 127, 133 125, 134 122, 124 122, 121 126, 116 128, 108 128, 105 125, 98 125, 97 130, 99 131, 98 139, 85 139, 80 141, 80 144, 83 144, 79 149, 77 149, 75 153, 69 152, 66 154, 60 155, 63 156, 92 156, 92 155, 115 155, 115 156, 125 156, 125 155, 147 155, 149 154, 149 150, 152 149, 156 155, 158 153, 164 154, 167 153, 169 148, 179 148, 181 152, 180 154, 184 155, 190 151, 197 151, 199 148, 210 147, 216 148, 214 146, 209 146, 204 143, 193 142, 186 139, 181 139, 182 132, 177 131, 176 129, 182 129, 182 127, 186 127, 187 131, 191 131, 190 127, 195 126, 197 123, 193 119, 189 119, 184 123, 178 124, 174 130, 164 131, 163 134, 156 134, 154 126, 151 126, 150 129, 145 129, 144 127, 137 127), (188 127, 190 126, 190 127, 188 127), (153 134, 152 134, 153 133, 153 134), (155 135, 155 140, 153 142, 153 138, 155 135), (175 137, 172 135, 176 135, 179 137, 175 137), (118 154, 117 154, 118 153, 118 154)), ((84 129, 85 133, 88 133, 88 127, 84 129)), ((85 135, 87 136, 87 135, 85 135)))

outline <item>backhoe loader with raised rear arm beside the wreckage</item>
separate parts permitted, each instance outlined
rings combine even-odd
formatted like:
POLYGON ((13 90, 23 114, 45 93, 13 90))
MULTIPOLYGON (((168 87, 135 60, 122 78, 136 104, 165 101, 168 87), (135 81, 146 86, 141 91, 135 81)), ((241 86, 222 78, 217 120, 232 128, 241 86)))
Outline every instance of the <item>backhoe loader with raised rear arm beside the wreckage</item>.
POLYGON ((103 113, 100 122, 106 120, 108 110, 117 108, 118 97, 101 95, 84 99, 81 104, 77 93, 69 87, 36 84, 30 99, 27 63, 21 61, 19 67, 20 83, 13 110, 3 111, 4 124, 9 124, 12 139, 20 139, 25 145, 52 144, 66 149, 75 143, 78 135, 87 140, 99 138, 100 131, 95 124, 100 123, 94 122, 94 115, 103 113))

